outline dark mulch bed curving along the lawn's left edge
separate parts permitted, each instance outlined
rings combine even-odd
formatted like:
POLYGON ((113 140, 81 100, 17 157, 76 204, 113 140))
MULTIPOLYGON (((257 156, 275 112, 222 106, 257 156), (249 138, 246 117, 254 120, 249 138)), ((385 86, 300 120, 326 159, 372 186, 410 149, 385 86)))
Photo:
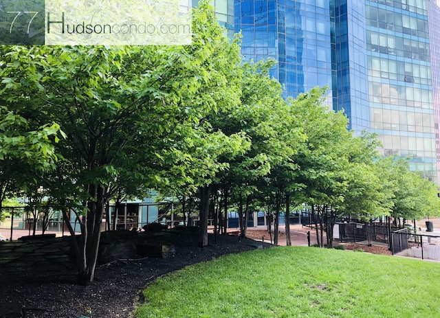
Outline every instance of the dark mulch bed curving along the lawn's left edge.
POLYGON ((0 302, 24 306, 28 317, 135 317, 133 312, 142 303, 142 289, 157 277, 221 255, 254 249, 248 245, 254 240, 230 235, 217 236, 217 242, 210 235, 209 246, 199 248, 197 233, 190 231, 170 236, 167 242, 175 245, 175 257, 105 264, 96 269, 95 280, 89 286, 78 286, 76 273, 72 272, 0 273, 0 302))

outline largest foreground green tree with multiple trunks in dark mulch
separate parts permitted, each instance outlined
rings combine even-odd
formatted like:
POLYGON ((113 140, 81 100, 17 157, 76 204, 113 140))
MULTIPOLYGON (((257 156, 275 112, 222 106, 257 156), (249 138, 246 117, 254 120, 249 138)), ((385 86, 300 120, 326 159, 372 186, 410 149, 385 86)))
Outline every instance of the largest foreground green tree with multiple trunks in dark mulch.
POLYGON ((220 32, 206 27, 214 20, 195 14, 193 21, 194 41, 186 47, 3 49, 2 96, 24 101, 19 115, 35 126, 56 122, 67 136, 54 150, 56 171, 39 179, 65 216, 68 209, 82 216, 74 240, 80 284, 94 279, 103 208, 118 189, 142 196, 179 178, 209 184, 199 181, 221 168, 217 150, 243 144, 204 121, 230 92, 216 91, 228 82, 215 74, 220 32), (203 94, 207 87, 212 98, 203 94))

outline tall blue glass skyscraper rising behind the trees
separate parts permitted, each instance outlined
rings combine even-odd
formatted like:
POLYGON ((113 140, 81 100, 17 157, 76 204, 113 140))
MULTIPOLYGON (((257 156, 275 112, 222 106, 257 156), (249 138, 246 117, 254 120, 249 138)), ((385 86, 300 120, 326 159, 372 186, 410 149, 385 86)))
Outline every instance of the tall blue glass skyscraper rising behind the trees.
POLYGON ((410 157, 411 170, 439 182, 439 5, 234 1, 234 30, 245 59, 277 61, 286 96, 327 85, 329 106, 344 109, 355 133, 377 133, 382 155, 410 157))

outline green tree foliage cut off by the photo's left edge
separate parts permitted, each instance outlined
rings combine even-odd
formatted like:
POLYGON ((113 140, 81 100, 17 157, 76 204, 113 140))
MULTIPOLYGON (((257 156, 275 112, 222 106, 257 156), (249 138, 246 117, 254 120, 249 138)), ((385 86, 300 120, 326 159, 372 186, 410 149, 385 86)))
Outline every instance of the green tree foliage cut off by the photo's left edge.
POLYGON ((0 47, 0 219, 5 199, 54 168, 54 146, 65 137, 58 124, 34 120, 36 90, 27 87, 32 69, 19 67, 22 57, 11 59, 13 51, 14 47, 0 47))

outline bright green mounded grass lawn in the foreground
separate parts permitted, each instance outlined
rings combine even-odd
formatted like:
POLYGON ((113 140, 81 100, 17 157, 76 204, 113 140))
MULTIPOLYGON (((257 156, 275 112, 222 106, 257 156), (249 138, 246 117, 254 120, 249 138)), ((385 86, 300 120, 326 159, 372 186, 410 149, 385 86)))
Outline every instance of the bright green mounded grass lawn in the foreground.
POLYGON ((440 317, 440 263, 276 247, 188 266, 144 291, 146 317, 440 317))

